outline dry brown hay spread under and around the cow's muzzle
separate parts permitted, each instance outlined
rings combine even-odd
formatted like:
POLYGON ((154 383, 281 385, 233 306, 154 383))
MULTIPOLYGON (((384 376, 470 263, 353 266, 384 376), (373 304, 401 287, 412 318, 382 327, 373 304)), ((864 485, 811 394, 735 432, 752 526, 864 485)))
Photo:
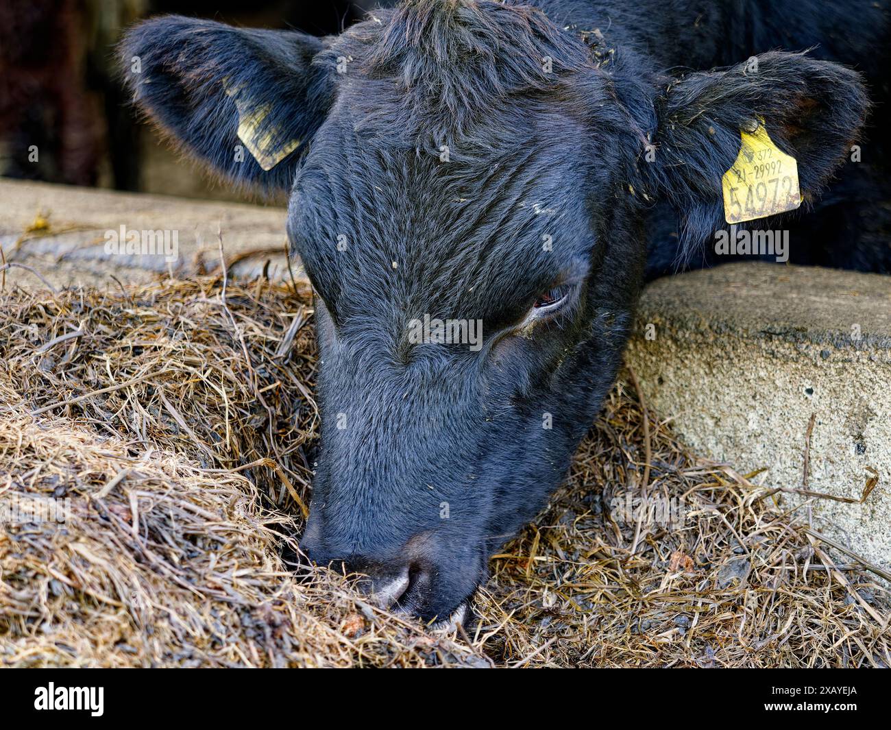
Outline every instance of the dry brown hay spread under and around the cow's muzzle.
POLYGON ((493 559, 470 636, 299 566, 308 292, 224 283, 0 299, 0 506, 70 505, 0 524, 3 665, 891 664, 887 591, 622 383, 568 484, 493 559), (617 510, 644 493, 683 520, 617 510))

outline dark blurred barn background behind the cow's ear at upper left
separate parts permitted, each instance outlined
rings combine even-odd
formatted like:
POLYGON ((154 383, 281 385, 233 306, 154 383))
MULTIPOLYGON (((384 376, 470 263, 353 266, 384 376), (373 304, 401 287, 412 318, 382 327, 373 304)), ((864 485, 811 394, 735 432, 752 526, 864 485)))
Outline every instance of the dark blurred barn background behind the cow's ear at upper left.
POLYGON ((0 0, 0 176, 237 200, 136 118, 114 47, 176 12, 233 25, 338 33, 373 0, 0 0), (29 161, 37 145, 39 159, 29 161))

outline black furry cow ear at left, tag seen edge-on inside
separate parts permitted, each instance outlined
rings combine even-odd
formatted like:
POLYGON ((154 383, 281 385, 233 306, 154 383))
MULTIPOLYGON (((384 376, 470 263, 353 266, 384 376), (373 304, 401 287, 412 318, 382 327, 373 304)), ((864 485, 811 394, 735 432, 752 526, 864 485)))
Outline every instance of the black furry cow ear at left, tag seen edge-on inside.
POLYGON ((323 40, 171 15, 127 32, 136 105, 177 147, 238 185, 287 190, 331 107, 323 40))

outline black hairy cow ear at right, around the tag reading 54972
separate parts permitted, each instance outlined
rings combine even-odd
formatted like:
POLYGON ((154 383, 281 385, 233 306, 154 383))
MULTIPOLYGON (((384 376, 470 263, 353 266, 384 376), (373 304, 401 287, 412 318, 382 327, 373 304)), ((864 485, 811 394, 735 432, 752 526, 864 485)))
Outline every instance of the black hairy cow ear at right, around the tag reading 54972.
POLYGON ((722 178, 740 132, 763 129, 797 160, 805 201, 820 193, 857 138, 869 101, 862 79, 805 53, 764 53, 726 70, 673 78, 656 101, 647 187, 674 204, 685 244, 724 225, 722 178))

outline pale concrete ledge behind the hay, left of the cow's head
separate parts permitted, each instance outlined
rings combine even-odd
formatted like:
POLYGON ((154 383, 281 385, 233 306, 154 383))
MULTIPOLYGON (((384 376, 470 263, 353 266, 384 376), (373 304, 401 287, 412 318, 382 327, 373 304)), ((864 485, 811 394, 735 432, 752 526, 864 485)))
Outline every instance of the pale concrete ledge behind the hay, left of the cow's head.
MULTIPOLYGON (((233 275, 258 275, 264 267, 271 278, 288 275, 284 208, 4 179, 0 201, 0 249, 6 260, 36 268, 56 287, 117 286, 111 275, 123 283, 148 283, 168 268, 178 275, 213 270, 220 260, 218 229, 233 275), (37 217, 47 227, 29 230, 37 217), (120 226, 176 231, 176 260, 108 254, 105 233, 120 226)), ((18 268, 5 275, 7 283, 35 285, 33 275, 18 268)))

